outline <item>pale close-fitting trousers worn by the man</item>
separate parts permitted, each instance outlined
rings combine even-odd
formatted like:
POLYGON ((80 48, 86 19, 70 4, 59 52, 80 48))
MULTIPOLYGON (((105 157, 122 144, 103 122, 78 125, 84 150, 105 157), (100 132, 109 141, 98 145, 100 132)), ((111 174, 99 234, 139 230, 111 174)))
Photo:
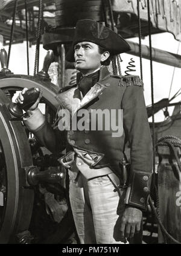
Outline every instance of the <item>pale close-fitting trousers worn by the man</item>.
POLYGON ((120 232, 116 220, 122 200, 118 184, 113 173, 89 180, 78 173, 76 180, 70 179, 69 197, 80 243, 122 243, 115 240, 120 232))

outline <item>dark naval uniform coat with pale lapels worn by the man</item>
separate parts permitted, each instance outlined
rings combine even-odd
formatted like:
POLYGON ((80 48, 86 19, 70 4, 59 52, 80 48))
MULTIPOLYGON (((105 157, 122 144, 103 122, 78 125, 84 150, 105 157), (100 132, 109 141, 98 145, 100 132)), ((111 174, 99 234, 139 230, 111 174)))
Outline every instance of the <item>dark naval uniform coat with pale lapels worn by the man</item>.
MULTIPOLYGON (((46 123, 39 110, 33 116, 24 120, 28 129, 32 130, 36 138, 51 152, 79 149, 96 153, 94 163, 90 168, 109 167, 120 176, 122 170, 121 159, 125 156, 125 144, 130 147, 130 165, 127 179, 127 198, 125 202, 141 210, 146 210, 150 192, 153 150, 147 110, 145 107, 143 85, 138 76, 111 75, 106 66, 100 68, 98 82, 87 92, 81 100, 77 86, 62 88, 57 95, 60 105, 68 110, 74 106, 74 113, 78 110, 118 110, 122 109, 121 136, 112 136, 110 130, 68 130, 65 132, 53 130, 46 123)), ((118 113, 118 111, 117 111, 118 113)), ((116 116, 118 117, 118 116, 116 116)), ((78 122, 77 117, 77 122, 78 122)), ((105 120, 104 120, 105 121, 105 120)), ((88 123, 91 123, 91 115, 88 123)), ((103 123, 104 127, 104 123, 103 123)))

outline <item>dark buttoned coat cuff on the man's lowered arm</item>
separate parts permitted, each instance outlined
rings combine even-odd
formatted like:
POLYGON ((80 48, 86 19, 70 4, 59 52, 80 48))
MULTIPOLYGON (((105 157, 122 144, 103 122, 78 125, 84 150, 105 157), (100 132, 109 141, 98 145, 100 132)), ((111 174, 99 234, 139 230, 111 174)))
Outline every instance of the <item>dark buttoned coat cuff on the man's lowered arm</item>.
POLYGON ((127 188, 124 202, 140 210, 147 210, 148 195, 150 194, 151 174, 144 171, 134 172, 132 182, 127 188))

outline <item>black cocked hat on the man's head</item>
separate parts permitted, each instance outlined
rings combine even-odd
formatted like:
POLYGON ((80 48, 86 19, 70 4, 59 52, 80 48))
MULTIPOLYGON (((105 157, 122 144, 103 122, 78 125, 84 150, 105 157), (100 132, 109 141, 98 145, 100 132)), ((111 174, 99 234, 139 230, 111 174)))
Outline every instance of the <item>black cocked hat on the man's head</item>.
POLYGON ((92 19, 81 19, 77 22, 71 48, 66 54, 69 62, 75 61, 74 45, 78 42, 96 43, 109 50, 112 55, 130 50, 129 44, 121 36, 92 19))

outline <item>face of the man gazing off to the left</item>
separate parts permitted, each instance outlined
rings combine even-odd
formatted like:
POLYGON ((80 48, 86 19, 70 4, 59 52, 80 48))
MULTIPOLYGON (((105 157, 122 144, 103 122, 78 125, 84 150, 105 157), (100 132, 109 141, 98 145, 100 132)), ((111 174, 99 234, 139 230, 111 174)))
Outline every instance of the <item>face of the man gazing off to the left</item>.
POLYGON ((101 66, 102 55, 95 43, 77 43, 74 46, 75 68, 83 74, 94 72, 101 66))

